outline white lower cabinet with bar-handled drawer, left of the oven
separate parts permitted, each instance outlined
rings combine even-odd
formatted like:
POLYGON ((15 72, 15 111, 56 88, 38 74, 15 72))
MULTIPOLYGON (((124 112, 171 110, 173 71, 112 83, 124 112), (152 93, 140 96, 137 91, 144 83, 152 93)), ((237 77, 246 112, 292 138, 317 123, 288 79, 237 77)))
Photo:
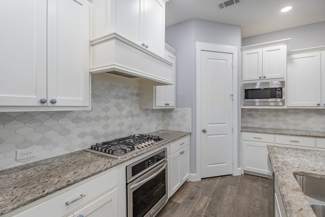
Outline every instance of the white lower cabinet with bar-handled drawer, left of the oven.
POLYGON ((118 216, 117 174, 115 169, 94 175, 9 212, 4 217, 43 217, 45 213, 52 217, 118 216))

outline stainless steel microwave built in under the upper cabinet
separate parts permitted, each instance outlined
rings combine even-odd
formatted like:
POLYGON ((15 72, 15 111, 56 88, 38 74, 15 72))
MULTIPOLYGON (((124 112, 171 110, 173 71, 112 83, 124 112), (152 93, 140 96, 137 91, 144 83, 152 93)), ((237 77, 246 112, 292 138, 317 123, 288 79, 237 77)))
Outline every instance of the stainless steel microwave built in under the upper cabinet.
POLYGON ((243 106, 283 106, 284 81, 243 84, 243 106))

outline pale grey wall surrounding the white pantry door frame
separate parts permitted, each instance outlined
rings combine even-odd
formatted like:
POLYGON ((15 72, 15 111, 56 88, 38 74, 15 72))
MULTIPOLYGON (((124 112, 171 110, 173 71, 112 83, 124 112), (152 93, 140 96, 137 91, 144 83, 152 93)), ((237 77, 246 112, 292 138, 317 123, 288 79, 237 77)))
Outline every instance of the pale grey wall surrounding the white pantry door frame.
MULTIPOLYGON (((238 84, 241 80, 241 30, 229 25, 206 20, 190 19, 166 28, 166 43, 178 51, 176 59, 176 107, 192 109, 190 172, 196 173, 196 52, 195 43, 206 42, 238 47, 238 84)), ((239 90, 240 91, 240 88, 239 90)), ((238 92, 238 96, 239 92, 238 92)), ((240 99, 240 97, 238 98, 240 99)), ((239 103, 239 102, 238 102, 239 103)), ((239 104, 240 105, 240 104, 239 104)), ((240 117, 240 110, 238 110, 240 117)), ((238 121, 238 127, 240 120, 238 121)), ((238 128, 240 129, 240 128, 238 128)), ((239 133, 238 133, 239 137, 239 133)), ((238 140, 240 141, 240 140, 238 140)), ((240 153, 240 145, 238 144, 240 153)), ((238 154, 240 158, 240 154, 238 154)), ((240 164, 240 159, 238 159, 240 164)), ((239 166, 239 165, 238 165, 239 166)))

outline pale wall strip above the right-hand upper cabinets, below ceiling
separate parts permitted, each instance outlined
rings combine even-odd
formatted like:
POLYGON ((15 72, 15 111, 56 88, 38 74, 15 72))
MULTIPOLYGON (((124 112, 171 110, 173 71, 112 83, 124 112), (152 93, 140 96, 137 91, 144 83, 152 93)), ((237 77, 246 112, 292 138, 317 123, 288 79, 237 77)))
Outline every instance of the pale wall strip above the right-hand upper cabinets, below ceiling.
POLYGON ((325 22, 287 28, 272 33, 243 38, 242 46, 287 38, 291 38, 287 45, 288 51, 325 46, 325 22))

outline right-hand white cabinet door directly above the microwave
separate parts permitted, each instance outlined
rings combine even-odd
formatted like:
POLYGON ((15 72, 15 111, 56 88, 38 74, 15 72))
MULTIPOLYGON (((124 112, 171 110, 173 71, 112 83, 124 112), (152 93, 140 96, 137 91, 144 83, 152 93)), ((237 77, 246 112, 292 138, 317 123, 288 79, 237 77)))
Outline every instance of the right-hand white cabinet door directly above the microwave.
POLYGON ((284 78, 286 45, 263 48, 263 79, 284 78))

